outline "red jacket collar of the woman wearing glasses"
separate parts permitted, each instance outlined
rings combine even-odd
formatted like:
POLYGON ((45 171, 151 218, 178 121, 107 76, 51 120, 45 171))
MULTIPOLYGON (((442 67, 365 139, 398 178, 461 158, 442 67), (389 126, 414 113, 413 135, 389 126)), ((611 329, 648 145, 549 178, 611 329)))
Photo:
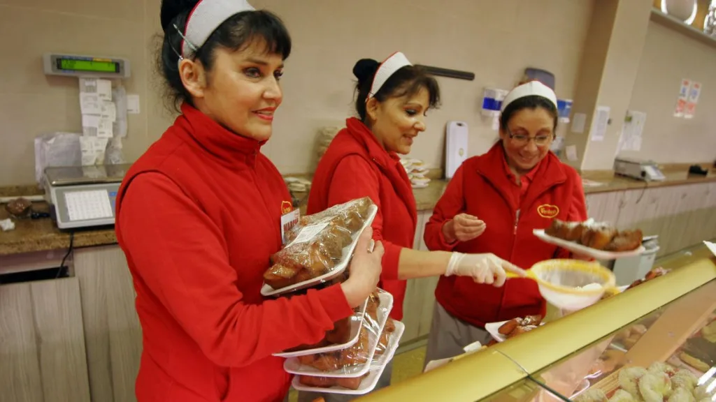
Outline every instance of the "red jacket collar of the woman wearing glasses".
MULTIPOLYGON (((498 141, 483 157, 478 158, 476 167, 478 173, 500 192, 508 204, 518 210, 521 205, 518 205, 518 200, 512 200, 511 192, 508 190, 511 188, 512 183, 508 175, 505 174, 504 165, 506 163, 505 149, 502 141, 498 141)), ((567 180, 562 162, 552 152, 548 152, 544 159, 528 175, 531 175, 532 180, 523 205, 531 205, 551 187, 560 185, 567 180)))

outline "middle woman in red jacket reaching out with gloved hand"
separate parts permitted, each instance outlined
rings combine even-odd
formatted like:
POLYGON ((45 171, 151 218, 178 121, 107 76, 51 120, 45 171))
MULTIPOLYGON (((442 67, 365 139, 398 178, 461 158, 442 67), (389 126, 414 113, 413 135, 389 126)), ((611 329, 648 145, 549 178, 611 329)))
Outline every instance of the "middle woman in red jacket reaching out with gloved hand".
MULTIPOLYGON (((385 246, 380 286, 394 297, 391 317, 402 319, 405 280, 409 278, 468 276, 465 280, 499 287, 505 281, 505 270, 523 275, 519 268, 489 253, 412 250, 417 210, 398 154, 409 153, 415 137, 425 131, 425 114, 440 99, 437 82, 400 52, 382 63, 359 60, 353 74, 358 79, 355 106, 359 117, 347 119, 346 128, 321 157, 307 212, 366 196, 378 205, 373 235, 385 246)), ((390 368, 379 385, 389 381, 390 368)), ((337 400, 332 395, 326 396, 328 399, 337 400)))

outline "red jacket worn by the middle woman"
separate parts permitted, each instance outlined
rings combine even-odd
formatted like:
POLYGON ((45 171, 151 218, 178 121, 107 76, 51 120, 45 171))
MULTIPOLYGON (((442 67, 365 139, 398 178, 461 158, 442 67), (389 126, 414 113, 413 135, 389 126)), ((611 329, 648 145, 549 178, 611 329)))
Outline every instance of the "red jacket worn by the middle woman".
POLYGON ((306 212, 360 197, 370 197, 378 206, 373 238, 385 247, 379 286, 393 295, 390 317, 402 320, 406 281, 397 280, 397 271, 400 251, 415 241, 415 196, 400 157, 387 152, 365 124, 351 117, 316 167, 306 212))

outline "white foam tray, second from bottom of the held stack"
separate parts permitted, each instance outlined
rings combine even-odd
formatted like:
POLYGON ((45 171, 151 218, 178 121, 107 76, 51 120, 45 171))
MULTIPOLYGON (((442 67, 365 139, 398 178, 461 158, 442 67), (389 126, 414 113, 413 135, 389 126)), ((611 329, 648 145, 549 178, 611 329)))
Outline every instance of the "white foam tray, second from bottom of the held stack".
POLYGON ((300 374, 304 376, 318 376, 318 377, 344 377, 353 378, 359 377, 367 373, 370 369, 373 356, 375 354, 375 348, 378 345, 380 333, 383 332, 385 321, 388 319, 390 310, 393 308, 393 296, 390 293, 381 291, 378 295, 381 307, 378 308, 378 331, 377 334, 368 333, 368 360, 358 366, 350 366, 339 368, 334 371, 320 371, 317 368, 311 366, 305 366, 299 362, 298 358, 288 358, 284 361, 284 370, 291 374, 300 374))

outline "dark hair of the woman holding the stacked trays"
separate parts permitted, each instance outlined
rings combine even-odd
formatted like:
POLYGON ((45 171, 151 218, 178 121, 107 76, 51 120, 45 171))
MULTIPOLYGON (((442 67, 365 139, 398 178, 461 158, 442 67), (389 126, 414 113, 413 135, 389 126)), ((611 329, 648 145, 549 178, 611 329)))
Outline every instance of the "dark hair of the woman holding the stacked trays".
MULTIPOLYGON (((166 82, 166 92, 173 109, 182 102, 191 102, 191 95, 179 76, 179 54, 182 53, 182 36, 189 13, 199 0, 163 0, 161 9, 164 38, 159 52, 158 67, 166 82), (182 30, 181 34, 174 26, 182 30)), ((198 59, 209 72, 218 47, 238 51, 246 49, 253 41, 262 40, 266 53, 280 54, 285 60, 291 54, 291 36, 284 22, 270 11, 242 11, 223 21, 197 49, 198 59)))

